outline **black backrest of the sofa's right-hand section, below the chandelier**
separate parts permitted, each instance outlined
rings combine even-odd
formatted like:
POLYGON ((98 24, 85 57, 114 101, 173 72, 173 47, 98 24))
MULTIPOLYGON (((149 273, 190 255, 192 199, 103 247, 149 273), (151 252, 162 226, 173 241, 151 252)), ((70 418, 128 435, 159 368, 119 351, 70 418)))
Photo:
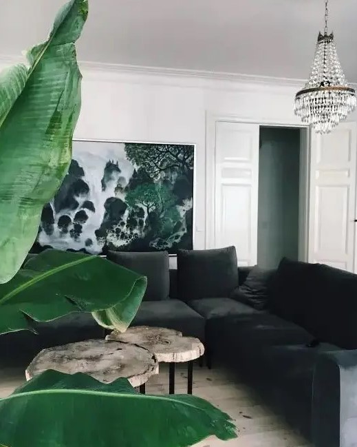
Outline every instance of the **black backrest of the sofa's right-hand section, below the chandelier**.
POLYGON ((270 309, 321 342, 357 349, 357 275, 353 273, 283 259, 272 281, 270 309))

